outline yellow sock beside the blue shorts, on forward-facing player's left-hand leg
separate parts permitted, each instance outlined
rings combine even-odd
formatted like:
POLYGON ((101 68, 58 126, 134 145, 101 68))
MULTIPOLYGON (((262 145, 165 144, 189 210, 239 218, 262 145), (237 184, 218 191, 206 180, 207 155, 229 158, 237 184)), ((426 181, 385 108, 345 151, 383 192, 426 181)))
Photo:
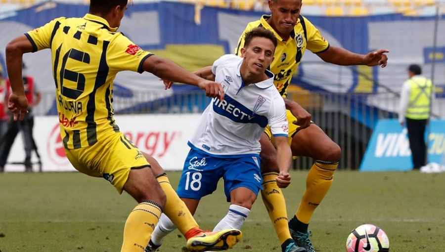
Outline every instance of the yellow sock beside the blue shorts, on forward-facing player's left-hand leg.
POLYGON ((273 228, 275 229, 280 244, 283 244, 287 239, 292 239, 289 233, 289 227, 287 224, 287 210, 286 202, 284 201, 283 193, 276 184, 275 178, 279 175, 277 170, 266 171, 263 175, 263 190, 261 190, 261 196, 263 197, 263 203, 266 206, 269 218, 272 221, 273 228))

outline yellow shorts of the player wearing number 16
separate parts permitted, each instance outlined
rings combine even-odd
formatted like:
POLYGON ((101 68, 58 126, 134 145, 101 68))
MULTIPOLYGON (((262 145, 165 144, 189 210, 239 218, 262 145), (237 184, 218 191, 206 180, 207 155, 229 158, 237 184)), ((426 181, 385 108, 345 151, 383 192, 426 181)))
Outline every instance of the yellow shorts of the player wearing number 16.
POLYGON ((147 160, 122 132, 80 149, 65 149, 66 157, 82 173, 103 177, 121 194, 131 169, 149 167, 147 160))

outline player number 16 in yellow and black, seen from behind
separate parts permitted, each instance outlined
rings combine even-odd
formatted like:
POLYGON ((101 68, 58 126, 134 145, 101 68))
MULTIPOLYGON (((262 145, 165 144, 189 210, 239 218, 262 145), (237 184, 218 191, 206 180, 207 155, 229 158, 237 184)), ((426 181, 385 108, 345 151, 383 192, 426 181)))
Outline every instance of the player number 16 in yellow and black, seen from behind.
MULTIPOLYGON (((14 120, 27 113, 22 81, 24 53, 51 49, 60 132, 71 164, 90 176, 103 177, 119 193, 127 191, 138 205, 124 227, 121 252, 143 252, 161 211, 176 222, 191 251, 233 246, 240 231, 206 233, 178 198, 159 164, 141 153, 113 119, 113 80, 120 71, 144 71, 169 81, 197 85, 206 95, 223 99, 220 84, 204 80, 170 60, 142 50, 117 32, 128 0, 90 0, 82 18, 56 18, 17 37, 6 46, 12 93, 8 109, 14 120), (206 247, 210 244, 209 247, 206 247), (197 246, 197 247, 196 247, 197 246)), ((49 67, 48 67, 49 68, 49 67)))

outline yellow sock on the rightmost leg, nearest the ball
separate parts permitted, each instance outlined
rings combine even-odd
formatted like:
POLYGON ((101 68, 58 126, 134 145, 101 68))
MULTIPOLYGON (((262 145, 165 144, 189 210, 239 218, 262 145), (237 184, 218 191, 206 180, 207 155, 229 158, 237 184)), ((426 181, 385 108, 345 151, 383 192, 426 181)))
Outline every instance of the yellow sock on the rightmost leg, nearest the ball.
POLYGON ((306 178, 306 191, 295 215, 298 220, 308 224, 312 214, 320 205, 331 187, 334 171, 338 162, 315 161, 306 178))

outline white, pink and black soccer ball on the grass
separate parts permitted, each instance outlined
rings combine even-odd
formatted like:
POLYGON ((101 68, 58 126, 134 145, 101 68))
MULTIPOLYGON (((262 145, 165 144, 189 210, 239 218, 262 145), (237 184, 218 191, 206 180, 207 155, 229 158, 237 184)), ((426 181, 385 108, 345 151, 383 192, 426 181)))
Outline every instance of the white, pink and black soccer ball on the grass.
POLYGON ((363 224, 346 239, 346 252, 389 252, 389 239, 378 226, 363 224))

